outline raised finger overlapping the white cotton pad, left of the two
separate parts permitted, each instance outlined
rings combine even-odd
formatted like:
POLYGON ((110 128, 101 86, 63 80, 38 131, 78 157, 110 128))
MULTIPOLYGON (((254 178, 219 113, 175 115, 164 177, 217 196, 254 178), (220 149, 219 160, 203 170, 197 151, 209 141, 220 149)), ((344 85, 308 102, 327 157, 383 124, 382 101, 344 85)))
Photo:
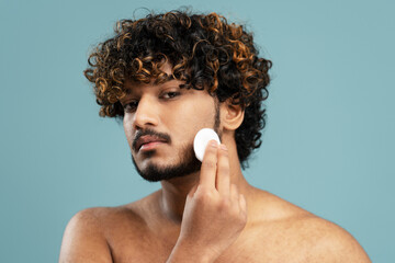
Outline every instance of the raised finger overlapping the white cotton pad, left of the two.
POLYGON ((205 187, 215 188, 215 175, 217 167, 218 144, 211 140, 204 152, 199 184, 205 187))

